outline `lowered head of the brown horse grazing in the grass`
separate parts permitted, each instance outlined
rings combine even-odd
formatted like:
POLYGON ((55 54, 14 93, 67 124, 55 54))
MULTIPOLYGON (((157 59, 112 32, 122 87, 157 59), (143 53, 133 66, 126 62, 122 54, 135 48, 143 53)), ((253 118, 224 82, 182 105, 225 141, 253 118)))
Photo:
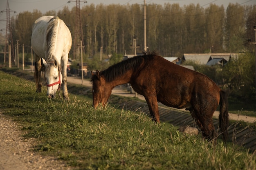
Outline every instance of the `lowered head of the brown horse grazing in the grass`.
POLYGON ((104 76, 102 76, 98 70, 96 73, 92 72, 92 79, 90 82, 92 82, 93 107, 97 108, 100 103, 104 106, 111 95, 111 86, 106 83, 104 76))

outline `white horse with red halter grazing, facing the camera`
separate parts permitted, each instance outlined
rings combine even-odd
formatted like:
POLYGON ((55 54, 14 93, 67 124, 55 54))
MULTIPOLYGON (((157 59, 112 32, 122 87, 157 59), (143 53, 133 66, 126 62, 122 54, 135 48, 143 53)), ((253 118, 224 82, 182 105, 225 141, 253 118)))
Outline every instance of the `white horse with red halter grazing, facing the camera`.
POLYGON ((63 83, 63 97, 67 93, 67 61, 72 37, 66 24, 58 17, 42 16, 32 27, 31 46, 35 56, 36 92, 41 92, 41 71, 47 80, 47 96, 54 98, 63 83))

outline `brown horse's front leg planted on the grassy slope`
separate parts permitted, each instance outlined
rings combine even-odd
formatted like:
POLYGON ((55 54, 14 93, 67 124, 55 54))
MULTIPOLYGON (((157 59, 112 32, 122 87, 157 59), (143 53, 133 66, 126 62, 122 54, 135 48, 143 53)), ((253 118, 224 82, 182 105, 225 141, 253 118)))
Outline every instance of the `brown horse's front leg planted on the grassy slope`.
POLYGON ((157 97, 150 95, 145 95, 146 102, 148 104, 149 112, 152 117, 152 120, 156 123, 160 123, 159 110, 157 105, 157 97))

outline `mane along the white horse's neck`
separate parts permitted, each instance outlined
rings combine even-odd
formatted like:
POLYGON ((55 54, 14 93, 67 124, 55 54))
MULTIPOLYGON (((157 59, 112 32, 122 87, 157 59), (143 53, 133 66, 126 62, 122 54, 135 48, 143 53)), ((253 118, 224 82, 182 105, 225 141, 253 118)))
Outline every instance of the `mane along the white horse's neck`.
POLYGON ((59 18, 54 17, 49 20, 49 25, 46 30, 46 42, 47 42, 47 55, 45 56, 46 62, 51 62, 52 59, 55 60, 54 51, 56 49, 56 41, 58 35, 59 18))

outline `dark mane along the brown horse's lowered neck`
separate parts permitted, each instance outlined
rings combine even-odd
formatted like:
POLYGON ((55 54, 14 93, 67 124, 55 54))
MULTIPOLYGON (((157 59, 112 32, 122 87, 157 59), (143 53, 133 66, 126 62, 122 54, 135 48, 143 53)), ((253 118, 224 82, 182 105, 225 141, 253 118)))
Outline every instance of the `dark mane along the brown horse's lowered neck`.
MULTIPOLYGON (((124 73, 130 70, 136 70, 143 61, 147 61, 157 55, 157 52, 153 51, 152 53, 144 53, 144 55, 136 56, 129 58, 127 60, 121 61, 115 65, 108 67, 106 70, 101 71, 100 75, 105 77, 106 82, 112 82, 116 77, 120 77, 124 73)), ((92 76, 90 82, 93 82, 94 79, 97 79, 96 75, 92 76)))

